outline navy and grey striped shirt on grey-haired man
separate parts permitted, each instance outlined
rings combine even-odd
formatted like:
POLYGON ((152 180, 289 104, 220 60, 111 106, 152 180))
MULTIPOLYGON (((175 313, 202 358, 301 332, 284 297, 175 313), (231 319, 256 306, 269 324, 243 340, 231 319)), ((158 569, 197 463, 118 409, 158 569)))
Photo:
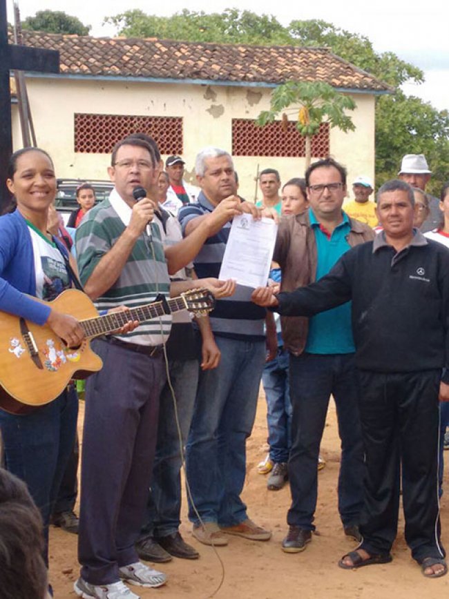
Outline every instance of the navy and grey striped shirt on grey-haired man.
MULTIPOLYGON (((196 217, 210 214, 214 208, 215 206, 202 192, 198 196, 198 202, 180 208, 178 218, 183 235, 188 222, 196 217)), ((200 279, 218 277, 230 229, 231 222, 227 222, 216 235, 207 239, 193 260, 195 272, 200 279)), ((218 299, 216 307, 209 315, 215 335, 244 341, 265 339, 263 333, 265 308, 251 302, 252 291, 249 287, 238 285, 234 295, 218 299)))

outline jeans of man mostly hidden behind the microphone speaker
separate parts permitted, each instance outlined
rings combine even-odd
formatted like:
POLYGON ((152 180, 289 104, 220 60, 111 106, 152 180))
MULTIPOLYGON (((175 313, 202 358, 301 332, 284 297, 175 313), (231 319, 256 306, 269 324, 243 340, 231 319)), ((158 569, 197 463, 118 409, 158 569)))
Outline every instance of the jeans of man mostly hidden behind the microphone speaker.
MULTIPOLYGON (((183 447, 186 444, 192 420, 199 368, 198 360, 184 362, 171 360, 169 362, 170 379, 175 392, 183 447)), ((142 536, 151 535, 159 538, 178 531, 181 523, 181 465, 178 426, 173 397, 167 382, 160 396, 153 478, 142 536)))

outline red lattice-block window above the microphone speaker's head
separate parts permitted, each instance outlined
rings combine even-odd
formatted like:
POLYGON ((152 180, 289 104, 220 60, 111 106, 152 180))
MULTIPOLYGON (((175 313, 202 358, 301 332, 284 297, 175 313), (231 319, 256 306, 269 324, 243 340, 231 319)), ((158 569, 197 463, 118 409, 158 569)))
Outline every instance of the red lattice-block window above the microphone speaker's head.
POLYGON ((182 118, 75 114, 75 152, 110 154, 131 133, 146 133, 161 154, 182 154, 182 118))

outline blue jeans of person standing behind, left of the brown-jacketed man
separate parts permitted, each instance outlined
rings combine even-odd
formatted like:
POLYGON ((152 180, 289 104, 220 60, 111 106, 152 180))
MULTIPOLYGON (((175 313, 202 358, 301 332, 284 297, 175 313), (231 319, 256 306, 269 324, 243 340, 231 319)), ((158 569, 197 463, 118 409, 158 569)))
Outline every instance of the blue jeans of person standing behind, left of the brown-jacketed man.
POLYGON ((283 348, 264 366, 262 383, 267 398, 269 457, 287 462, 292 446, 292 402, 289 394, 289 353, 283 348))

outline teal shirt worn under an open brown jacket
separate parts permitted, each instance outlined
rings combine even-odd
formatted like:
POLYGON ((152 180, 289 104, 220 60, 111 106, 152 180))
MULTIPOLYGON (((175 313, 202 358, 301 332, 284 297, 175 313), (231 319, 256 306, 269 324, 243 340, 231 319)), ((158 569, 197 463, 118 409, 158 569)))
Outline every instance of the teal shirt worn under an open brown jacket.
MULTIPOLYGON (((312 209, 309 208, 310 225, 314 230, 318 264, 316 280, 331 270, 338 259, 350 249, 347 235, 351 225, 343 212, 343 222, 332 231, 329 239, 320 229, 312 209)), ((309 319, 309 334, 305 351, 308 353, 334 354, 353 353, 355 351, 351 325, 351 302, 332 308, 309 319)))

